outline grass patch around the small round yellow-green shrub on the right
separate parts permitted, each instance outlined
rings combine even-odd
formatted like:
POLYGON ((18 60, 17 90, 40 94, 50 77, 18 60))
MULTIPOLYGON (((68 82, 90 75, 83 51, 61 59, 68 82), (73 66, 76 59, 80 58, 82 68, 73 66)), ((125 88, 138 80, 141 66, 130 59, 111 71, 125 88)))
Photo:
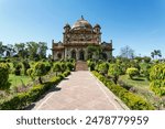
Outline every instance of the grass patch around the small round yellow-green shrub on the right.
POLYGON ((119 77, 119 80, 124 82, 128 85, 141 87, 141 88, 150 88, 150 82, 145 77, 135 77, 134 79, 130 79, 128 75, 122 75, 119 77))

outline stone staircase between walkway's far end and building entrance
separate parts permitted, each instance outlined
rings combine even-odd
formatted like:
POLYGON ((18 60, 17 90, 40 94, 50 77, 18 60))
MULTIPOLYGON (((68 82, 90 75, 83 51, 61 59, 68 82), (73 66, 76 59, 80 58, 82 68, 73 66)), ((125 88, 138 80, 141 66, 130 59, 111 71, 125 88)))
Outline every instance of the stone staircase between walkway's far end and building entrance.
POLYGON ((88 71, 88 65, 84 61, 76 62, 76 71, 88 71))

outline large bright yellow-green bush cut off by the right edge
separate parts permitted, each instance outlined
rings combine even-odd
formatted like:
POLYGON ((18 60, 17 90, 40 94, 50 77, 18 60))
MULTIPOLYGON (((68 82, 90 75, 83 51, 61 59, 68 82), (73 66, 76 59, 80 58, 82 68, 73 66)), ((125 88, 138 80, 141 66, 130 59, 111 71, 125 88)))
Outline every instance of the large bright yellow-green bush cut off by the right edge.
POLYGON ((165 95, 165 63, 160 63, 151 68, 150 88, 158 96, 165 95))

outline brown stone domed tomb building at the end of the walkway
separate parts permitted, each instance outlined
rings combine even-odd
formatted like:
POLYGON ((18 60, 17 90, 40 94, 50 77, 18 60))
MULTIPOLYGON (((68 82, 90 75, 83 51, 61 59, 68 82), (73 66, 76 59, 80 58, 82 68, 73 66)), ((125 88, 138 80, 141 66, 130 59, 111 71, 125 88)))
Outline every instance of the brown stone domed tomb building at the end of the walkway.
POLYGON ((99 24, 92 26, 82 17, 73 26, 64 26, 63 42, 52 41, 53 60, 75 58, 76 61, 87 61, 91 53, 88 46, 101 46, 102 55, 109 60, 112 57, 112 40, 110 43, 101 42, 101 28, 99 24))

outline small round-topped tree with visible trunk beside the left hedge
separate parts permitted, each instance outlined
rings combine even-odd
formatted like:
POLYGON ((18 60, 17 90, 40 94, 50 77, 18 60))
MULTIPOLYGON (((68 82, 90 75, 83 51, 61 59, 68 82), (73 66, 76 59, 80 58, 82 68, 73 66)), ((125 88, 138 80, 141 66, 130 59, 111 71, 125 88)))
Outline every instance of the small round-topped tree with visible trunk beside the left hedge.
POLYGON ((45 64, 42 62, 37 62, 34 66, 34 76, 38 76, 40 84, 43 84, 42 76, 46 74, 47 74, 47 71, 46 71, 45 64))

